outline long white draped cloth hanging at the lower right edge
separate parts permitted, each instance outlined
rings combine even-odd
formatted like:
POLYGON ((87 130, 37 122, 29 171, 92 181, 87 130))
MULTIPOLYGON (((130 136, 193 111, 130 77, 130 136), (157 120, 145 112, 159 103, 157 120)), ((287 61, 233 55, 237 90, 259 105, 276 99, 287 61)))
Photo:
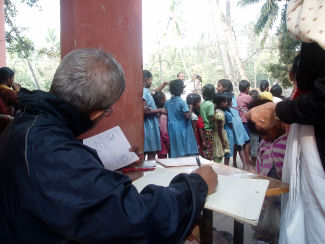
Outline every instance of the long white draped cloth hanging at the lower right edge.
POLYGON ((325 173, 313 126, 290 126, 282 180, 290 190, 282 195, 279 243, 324 244, 325 173))

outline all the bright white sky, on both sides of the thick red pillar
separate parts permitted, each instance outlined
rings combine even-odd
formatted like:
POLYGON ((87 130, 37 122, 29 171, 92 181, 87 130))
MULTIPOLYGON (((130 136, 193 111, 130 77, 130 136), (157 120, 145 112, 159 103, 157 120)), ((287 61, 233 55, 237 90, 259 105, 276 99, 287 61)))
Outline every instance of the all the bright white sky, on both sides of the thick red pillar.
MULTIPOLYGON (((201 33, 211 29, 210 1, 212 0, 184 0, 186 4, 183 4, 183 8, 179 10, 179 16, 183 23, 182 27, 186 30, 185 44, 195 43, 201 33)), ((236 2, 231 1, 235 31, 255 21, 261 7, 253 4, 242 9, 237 7, 236 2)), ((169 4, 167 0, 142 0, 144 60, 157 48, 156 40, 166 30, 169 4)), ((20 3, 17 6, 19 10, 17 24, 28 28, 26 34, 34 41, 36 48, 46 44, 45 36, 48 28, 55 29, 58 37, 60 35, 60 0, 39 0, 39 5, 41 11, 35 7, 30 8, 26 4, 20 3)))

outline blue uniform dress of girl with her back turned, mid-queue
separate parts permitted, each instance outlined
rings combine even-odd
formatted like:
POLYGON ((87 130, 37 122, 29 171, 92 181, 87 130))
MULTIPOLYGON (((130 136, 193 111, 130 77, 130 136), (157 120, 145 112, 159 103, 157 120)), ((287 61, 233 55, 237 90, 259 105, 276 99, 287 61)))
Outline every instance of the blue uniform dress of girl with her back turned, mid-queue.
POLYGON ((184 113, 189 111, 187 103, 176 96, 166 101, 165 108, 168 111, 170 157, 198 154, 191 120, 184 117, 184 113))

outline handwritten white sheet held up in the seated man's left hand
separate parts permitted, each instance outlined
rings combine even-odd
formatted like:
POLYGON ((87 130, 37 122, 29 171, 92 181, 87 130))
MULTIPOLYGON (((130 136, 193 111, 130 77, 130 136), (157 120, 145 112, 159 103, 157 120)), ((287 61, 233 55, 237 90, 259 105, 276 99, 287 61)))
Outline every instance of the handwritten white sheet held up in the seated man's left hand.
POLYGON ((131 145, 119 126, 86 138, 83 143, 97 151, 104 167, 109 170, 122 168, 139 159, 134 152, 129 152, 131 145))

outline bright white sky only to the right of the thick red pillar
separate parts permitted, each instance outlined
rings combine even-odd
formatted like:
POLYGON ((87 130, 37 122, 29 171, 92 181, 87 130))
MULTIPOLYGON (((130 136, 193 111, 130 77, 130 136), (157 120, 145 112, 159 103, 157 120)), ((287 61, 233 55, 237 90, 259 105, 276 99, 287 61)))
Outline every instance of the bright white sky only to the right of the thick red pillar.
MULTIPOLYGON (((195 43, 199 40, 201 33, 211 32, 211 5, 213 0, 185 0, 184 8, 179 12, 182 26, 186 31, 184 42, 195 43)), ((225 1, 219 1, 221 4, 225 1)), ((144 56, 155 48, 153 37, 161 35, 166 30, 166 16, 168 16, 169 1, 143 0, 143 47, 144 56), (148 53, 147 53, 148 52, 148 53)), ((225 6, 223 6, 225 12, 225 6)), ((237 1, 231 1, 231 13, 234 30, 256 21, 261 4, 253 4, 245 9, 237 6, 237 1)))

